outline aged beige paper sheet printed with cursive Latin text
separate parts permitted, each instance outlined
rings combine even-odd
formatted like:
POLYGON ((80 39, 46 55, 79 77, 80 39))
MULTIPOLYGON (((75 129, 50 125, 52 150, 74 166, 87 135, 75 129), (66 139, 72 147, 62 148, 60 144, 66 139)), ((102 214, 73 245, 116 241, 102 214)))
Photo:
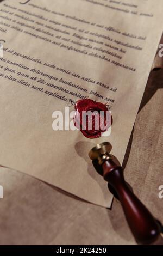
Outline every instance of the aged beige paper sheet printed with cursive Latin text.
POLYGON ((1 3, 0 163, 89 202, 112 202, 88 152, 110 141, 123 161, 161 38, 163 2, 30 0, 1 3), (111 136, 54 131, 54 111, 107 103, 111 136))

